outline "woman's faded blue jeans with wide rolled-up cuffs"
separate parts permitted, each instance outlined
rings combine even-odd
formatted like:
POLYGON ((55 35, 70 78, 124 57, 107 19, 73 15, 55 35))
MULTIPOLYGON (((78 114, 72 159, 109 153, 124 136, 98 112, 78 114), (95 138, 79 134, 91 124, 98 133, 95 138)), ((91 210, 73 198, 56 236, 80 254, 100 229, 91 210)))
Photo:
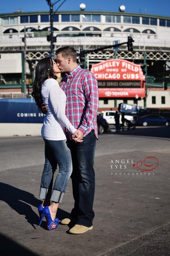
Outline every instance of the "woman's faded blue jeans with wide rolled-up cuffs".
POLYGON ((72 173, 71 153, 67 140, 45 141, 45 164, 41 177, 39 198, 61 203, 72 173), (59 167, 53 189, 53 175, 59 167))

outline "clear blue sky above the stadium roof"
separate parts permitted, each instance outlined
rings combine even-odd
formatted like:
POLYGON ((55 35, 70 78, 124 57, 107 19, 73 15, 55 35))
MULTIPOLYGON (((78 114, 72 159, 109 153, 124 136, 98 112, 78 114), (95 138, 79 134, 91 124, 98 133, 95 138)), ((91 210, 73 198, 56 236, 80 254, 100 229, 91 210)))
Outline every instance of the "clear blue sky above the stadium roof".
MULTIPOLYGON (((55 3, 57 0, 51 0, 55 3)), ((59 1, 54 5, 54 11, 64 0, 59 1)), ((66 0, 60 7, 60 11, 78 11, 81 3, 86 4, 87 11, 113 11, 118 12, 119 6, 125 6, 125 12, 146 13, 155 15, 170 16, 170 0, 66 0)), ((0 13, 13 13, 23 9, 24 12, 33 11, 49 11, 49 6, 46 0, 7 0, 1 1, 0 13)))

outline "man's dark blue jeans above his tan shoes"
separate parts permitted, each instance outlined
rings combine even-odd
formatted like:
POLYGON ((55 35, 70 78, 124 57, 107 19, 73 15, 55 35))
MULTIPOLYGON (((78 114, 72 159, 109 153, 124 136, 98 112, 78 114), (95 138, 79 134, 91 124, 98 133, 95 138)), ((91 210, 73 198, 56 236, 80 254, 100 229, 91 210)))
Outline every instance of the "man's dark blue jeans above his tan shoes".
POLYGON ((68 141, 73 171, 71 174, 74 208, 70 216, 77 219, 77 224, 92 226, 95 213, 92 209, 95 196, 95 171, 93 168, 96 148, 96 136, 91 130, 82 143, 68 141))

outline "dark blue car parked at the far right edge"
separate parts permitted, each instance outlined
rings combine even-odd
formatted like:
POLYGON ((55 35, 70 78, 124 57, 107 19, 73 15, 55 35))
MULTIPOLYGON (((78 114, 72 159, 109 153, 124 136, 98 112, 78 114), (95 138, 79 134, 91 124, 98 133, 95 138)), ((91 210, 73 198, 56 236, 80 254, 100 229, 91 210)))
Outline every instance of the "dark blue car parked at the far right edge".
POLYGON ((170 119, 165 118, 161 115, 156 115, 156 114, 150 114, 150 115, 145 115, 142 117, 137 118, 136 120, 137 125, 143 125, 143 126, 148 126, 148 125, 170 125, 170 119))

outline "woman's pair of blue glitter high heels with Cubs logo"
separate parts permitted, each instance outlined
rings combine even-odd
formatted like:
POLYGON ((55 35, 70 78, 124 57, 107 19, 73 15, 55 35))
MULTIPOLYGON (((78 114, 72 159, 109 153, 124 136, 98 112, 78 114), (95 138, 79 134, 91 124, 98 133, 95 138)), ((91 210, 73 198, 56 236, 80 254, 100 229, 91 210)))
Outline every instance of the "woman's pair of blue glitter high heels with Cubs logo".
POLYGON ((41 225, 41 222, 43 221, 44 216, 46 217, 46 220, 47 220, 47 229, 48 230, 54 230, 58 227, 59 220, 58 220, 58 218, 55 218, 55 221, 52 220, 48 206, 44 207, 44 209, 43 209, 39 227, 41 225))

